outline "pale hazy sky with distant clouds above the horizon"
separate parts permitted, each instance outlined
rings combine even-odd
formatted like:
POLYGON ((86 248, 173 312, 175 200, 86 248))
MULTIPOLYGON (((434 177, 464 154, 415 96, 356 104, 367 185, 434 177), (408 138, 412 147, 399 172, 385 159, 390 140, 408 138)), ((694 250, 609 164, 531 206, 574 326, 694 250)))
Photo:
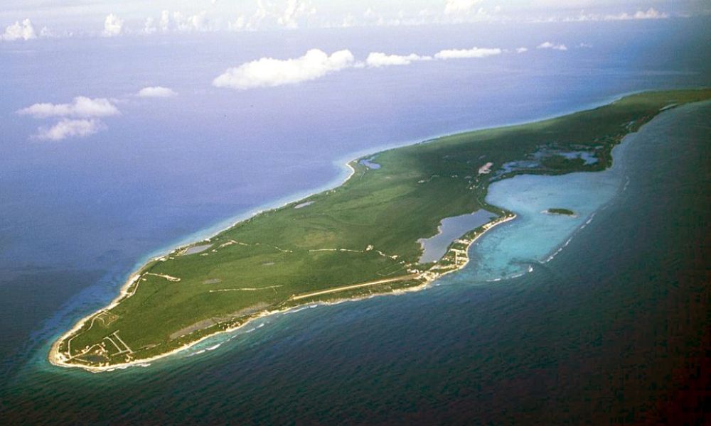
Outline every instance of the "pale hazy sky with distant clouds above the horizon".
POLYGON ((711 14, 711 0, 3 0, 0 40, 711 14))

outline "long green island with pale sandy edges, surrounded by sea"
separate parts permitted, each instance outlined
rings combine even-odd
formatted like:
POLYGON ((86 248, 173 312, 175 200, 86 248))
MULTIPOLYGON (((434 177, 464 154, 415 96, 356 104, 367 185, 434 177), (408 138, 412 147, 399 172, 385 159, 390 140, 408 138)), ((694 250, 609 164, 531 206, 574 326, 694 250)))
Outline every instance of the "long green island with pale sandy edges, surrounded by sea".
POLYGON ((469 131, 351 161, 342 185, 256 214, 155 258, 107 307, 56 340, 55 365, 105 371, 157 359, 272 312, 424 288, 468 261, 471 243, 513 212, 484 201, 492 182, 523 173, 599 171, 611 148, 665 109, 711 89, 645 92, 554 119, 469 131), (477 212, 438 261, 420 239, 443 219, 477 212))

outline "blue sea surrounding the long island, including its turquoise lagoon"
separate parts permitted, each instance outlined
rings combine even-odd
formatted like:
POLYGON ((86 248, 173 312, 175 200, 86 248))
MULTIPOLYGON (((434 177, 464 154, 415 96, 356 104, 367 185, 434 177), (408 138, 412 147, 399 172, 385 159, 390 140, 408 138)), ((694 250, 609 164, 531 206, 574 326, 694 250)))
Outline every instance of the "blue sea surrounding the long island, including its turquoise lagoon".
POLYGON ((565 114, 643 89, 710 86, 710 24, 689 18, 0 43, 0 419, 333 425, 675 418, 673 402, 688 396, 679 389, 705 371, 698 368, 707 366, 709 347, 708 103, 668 111, 626 138, 606 172, 493 185, 490 202, 518 219, 480 239, 464 271, 422 292, 264 318, 145 368, 91 374, 50 366, 46 354, 150 256, 337 185, 344 161, 358 153, 565 114), (535 49, 547 40, 570 48, 535 49), (210 86, 230 66, 314 47, 349 48, 362 60, 370 51, 432 54, 472 45, 530 50, 344 70, 245 92, 210 86), (127 96, 149 85, 179 95, 127 96), (122 114, 90 138, 28 138, 38 123, 15 111, 77 95, 124 99, 122 114), (550 207, 578 216, 541 213, 550 207))

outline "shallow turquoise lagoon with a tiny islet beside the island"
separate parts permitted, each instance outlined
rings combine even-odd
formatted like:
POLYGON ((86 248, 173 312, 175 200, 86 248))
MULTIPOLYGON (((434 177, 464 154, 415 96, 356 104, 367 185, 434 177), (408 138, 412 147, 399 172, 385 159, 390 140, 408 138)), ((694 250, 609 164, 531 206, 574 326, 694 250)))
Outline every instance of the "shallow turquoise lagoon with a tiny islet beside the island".
POLYGON ((518 175, 491 185, 486 201, 517 217, 472 246, 476 271, 471 278, 501 280, 551 261, 577 230, 590 224, 599 209, 625 189, 626 151, 637 143, 636 138, 636 134, 629 135, 613 148, 613 166, 603 172, 518 175), (575 216, 545 213, 555 207, 570 209, 575 216))

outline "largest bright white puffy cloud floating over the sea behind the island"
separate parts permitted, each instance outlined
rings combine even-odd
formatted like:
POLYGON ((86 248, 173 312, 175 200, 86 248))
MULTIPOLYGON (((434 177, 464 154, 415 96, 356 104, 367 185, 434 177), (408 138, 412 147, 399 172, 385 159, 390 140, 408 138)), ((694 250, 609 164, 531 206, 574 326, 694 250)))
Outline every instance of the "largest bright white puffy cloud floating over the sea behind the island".
POLYGON ((213 80, 213 86, 252 89, 297 84, 352 67, 353 62, 350 50, 338 50, 329 56, 322 50, 311 49, 300 58, 262 58, 230 68, 213 80))

